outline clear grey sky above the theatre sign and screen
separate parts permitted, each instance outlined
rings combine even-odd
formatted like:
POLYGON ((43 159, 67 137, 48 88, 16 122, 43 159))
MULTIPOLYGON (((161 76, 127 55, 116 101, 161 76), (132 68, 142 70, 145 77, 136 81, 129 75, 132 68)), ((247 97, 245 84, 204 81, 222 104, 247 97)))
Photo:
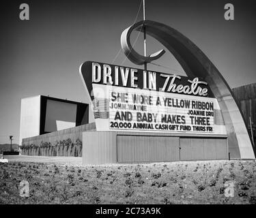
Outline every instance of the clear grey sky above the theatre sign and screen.
MULTIPOLYGON (((24 97, 50 95, 88 103, 79 76, 81 63, 98 61, 141 68, 126 59, 120 44, 122 31, 143 19, 141 1, 1 1, 0 144, 10 142, 10 135, 18 143, 20 99, 24 97), (19 18, 21 3, 29 5, 29 20, 19 18)), ((253 1, 145 3, 147 20, 162 22, 188 37, 231 88, 256 82, 253 1), (233 4, 235 20, 225 20, 226 3, 233 4)), ((134 42, 135 50, 143 54, 143 34, 132 33, 134 42)), ((162 48, 147 37, 148 54, 162 48)), ((163 67, 148 64, 147 69, 186 75, 170 52, 153 63, 163 67)))

